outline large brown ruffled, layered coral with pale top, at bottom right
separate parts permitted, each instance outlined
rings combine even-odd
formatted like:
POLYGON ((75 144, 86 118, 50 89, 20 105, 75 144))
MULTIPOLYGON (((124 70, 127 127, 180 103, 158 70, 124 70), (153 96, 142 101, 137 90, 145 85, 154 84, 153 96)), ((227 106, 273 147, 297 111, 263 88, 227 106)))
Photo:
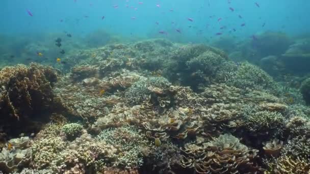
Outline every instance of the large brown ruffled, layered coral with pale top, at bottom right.
POLYGON ((248 149, 232 135, 220 135, 203 146, 186 144, 182 166, 197 173, 254 173, 257 150, 248 149))

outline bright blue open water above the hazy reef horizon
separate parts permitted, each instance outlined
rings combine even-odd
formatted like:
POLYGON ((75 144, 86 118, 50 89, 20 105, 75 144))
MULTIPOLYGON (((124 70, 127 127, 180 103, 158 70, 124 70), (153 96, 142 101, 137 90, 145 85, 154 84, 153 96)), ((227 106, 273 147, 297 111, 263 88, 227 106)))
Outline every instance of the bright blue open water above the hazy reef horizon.
POLYGON ((264 31, 296 35, 310 30, 307 0, 3 0, 1 4, 0 34, 85 35, 103 28, 133 38, 160 37, 159 31, 165 31, 166 37, 195 41, 218 37, 216 33, 247 38, 264 31))

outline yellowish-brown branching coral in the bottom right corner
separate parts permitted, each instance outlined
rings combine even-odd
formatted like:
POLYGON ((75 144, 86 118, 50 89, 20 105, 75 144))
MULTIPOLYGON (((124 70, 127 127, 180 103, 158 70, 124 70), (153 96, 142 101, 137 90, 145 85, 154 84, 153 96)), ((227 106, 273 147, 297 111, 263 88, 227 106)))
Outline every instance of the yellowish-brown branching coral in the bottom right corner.
POLYGON ((307 174, 310 172, 310 163, 302 159, 293 159, 289 156, 281 156, 267 163, 265 174, 307 174))

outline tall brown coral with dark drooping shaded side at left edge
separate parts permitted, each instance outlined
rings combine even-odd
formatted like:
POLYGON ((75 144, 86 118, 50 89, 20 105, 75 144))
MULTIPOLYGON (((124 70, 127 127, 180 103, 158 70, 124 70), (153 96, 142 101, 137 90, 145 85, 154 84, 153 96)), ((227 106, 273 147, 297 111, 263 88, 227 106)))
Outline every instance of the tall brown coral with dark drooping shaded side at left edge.
POLYGON ((17 65, 0 71, 0 127, 12 136, 20 132, 35 132, 39 128, 34 120, 44 120, 54 101, 52 87, 57 72, 51 67, 31 64, 17 65))

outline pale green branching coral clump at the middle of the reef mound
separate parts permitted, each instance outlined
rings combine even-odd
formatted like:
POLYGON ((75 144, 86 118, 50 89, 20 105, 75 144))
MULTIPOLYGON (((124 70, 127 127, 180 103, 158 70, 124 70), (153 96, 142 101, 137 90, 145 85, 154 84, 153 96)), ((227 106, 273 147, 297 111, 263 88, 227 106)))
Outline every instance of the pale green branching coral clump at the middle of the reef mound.
POLYGON ((125 92, 125 98, 128 103, 139 104, 145 100, 150 92, 148 87, 165 88, 170 86, 170 82, 164 77, 141 78, 125 92))

